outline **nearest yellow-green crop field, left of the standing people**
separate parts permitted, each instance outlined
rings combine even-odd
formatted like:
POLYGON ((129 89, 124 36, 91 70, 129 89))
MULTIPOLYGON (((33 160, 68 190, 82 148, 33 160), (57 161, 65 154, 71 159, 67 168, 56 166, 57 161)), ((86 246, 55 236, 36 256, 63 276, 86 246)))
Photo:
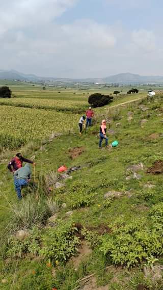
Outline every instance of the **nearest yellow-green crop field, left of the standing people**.
POLYGON ((52 133, 68 134, 77 127, 79 115, 28 108, 1 106, 1 147, 15 149, 52 133))

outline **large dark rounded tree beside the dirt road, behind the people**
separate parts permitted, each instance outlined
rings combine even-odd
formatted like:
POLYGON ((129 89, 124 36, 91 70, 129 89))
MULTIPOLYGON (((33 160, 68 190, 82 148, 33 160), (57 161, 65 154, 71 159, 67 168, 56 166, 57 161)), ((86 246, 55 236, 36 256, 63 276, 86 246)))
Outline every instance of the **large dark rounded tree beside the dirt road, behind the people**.
POLYGON ((113 97, 108 95, 102 95, 100 93, 95 93, 89 96, 88 102, 91 104, 92 107, 103 107, 106 104, 113 101, 113 97))

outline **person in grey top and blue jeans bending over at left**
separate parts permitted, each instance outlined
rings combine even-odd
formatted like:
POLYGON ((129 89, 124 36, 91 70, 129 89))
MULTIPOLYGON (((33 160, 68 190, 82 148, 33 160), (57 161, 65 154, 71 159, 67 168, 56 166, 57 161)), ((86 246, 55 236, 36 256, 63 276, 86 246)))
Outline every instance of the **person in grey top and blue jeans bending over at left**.
POLYGON ((21 188, 28 186, 31 180, 31 166, 30 164, 25 164, 24 167, 19 168, 14 172, 14 185, 17 197, 20 200, 22 198, 21 188))

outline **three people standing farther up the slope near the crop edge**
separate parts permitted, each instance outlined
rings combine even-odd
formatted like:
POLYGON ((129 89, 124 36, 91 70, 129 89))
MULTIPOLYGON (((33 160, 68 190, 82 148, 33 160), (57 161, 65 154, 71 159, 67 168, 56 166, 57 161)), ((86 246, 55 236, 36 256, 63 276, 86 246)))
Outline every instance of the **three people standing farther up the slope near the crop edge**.
MULTIPOLYGON (((89 107, 89 110, 86 111, 86 116, 83 115, 79 119, 79 135, 82 135, 83 128, 87 129, 88 126, 91 127, 92 125, 92 118, 94 116, 94 111, 92 110, 91 107, 89 107), (86 124, 85 124, 86 123, 86 124)), ((99 148, 101 149, 102 147, 102 140, 105 139, 105 146, 108 145, 108 138, 106 137, 106 120, 102 120, 100 130, 99 130, 99 148)))

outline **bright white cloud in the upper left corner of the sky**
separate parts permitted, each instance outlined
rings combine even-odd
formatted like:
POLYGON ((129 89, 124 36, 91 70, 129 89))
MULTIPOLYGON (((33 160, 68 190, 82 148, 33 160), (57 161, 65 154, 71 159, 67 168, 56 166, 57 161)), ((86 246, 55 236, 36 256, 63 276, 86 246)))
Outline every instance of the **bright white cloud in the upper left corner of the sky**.
POLYGON ((77 0, 6 0, 1 3, 0 34, 51 22, 77 0))

